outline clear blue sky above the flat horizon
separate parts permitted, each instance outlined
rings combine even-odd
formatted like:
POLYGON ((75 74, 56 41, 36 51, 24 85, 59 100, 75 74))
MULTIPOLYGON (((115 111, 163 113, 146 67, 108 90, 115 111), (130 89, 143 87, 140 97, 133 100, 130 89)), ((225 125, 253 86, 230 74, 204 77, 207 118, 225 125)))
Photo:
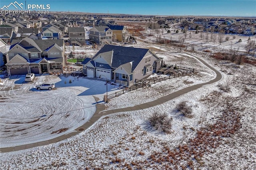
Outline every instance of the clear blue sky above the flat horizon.
MULTIPOLYGON (((16 0, 19 4, 49 4, 49 11, 154 16, 253 16, 255 0, 16 0)), ((1 0, 0 8, 15 0, 1 0)), ((25 5, 24 5, 25 6, 25 5)))

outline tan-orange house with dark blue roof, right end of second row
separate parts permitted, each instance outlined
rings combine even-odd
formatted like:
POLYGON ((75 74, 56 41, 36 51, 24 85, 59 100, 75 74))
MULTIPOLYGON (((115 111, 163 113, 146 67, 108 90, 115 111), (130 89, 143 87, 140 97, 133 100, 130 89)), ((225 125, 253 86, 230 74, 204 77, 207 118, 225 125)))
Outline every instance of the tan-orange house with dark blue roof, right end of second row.
POLYGON ((124 26, 109 25, 108 28, 112 30, 112 40, 117 42, 125 42, 128 39, 128 33, 124 26))

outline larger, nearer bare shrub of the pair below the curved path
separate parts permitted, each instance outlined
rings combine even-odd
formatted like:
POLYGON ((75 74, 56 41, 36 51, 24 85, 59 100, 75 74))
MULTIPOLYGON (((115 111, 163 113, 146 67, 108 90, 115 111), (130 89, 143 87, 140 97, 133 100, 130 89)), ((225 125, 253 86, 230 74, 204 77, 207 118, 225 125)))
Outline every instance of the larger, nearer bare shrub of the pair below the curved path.
POLYGON ((160 130, 166 134, 172 132, 172 117, 169 118, 167 113, 153 113, 149 121, 150 125, 156 130, 160 130))

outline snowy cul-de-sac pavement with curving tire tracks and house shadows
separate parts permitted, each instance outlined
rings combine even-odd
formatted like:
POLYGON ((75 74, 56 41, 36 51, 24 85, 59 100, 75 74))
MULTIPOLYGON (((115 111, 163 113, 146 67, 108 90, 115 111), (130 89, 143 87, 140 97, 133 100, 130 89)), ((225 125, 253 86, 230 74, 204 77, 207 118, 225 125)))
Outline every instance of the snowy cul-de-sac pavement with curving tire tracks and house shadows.
MULTIPOLYGON (((3 80, 0 126, 2 148, 41 142, 72 132, 96 111, 94 97, 103 100, 105 81, 65 75, 36 75, 33 82, 25 76, 3 80), (55 89, 36 90, 41 83, 55 83, 55 89), (71 83, 70 83, 71 82, 71 83), (61 130, 61 131, 60 131, 61 130)), ((108 84, 111 93, 118 86, 108 84)))

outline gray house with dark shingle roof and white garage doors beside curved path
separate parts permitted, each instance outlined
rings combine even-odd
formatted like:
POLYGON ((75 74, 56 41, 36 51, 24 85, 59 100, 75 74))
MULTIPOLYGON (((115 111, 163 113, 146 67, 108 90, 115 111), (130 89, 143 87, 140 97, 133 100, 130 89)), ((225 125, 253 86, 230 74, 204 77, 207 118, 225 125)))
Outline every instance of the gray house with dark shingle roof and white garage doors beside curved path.
POLYGON ((93 58, 82 62, 83 73, 88 77, 104 75, 115 83, 132 86, 136 80, 157 72, 162 58, 149 49, 104 45, 93 58))

